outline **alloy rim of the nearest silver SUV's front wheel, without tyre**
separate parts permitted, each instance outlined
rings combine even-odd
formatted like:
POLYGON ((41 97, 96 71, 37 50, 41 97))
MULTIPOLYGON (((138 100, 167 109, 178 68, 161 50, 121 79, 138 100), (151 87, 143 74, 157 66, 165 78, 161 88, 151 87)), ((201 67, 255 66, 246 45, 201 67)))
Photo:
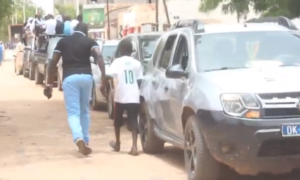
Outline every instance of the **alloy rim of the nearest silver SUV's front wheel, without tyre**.
POLYGON ((189 173, 194 174, 197 165, 197 148, 192 128, 185 132, 185 159, 189 173))

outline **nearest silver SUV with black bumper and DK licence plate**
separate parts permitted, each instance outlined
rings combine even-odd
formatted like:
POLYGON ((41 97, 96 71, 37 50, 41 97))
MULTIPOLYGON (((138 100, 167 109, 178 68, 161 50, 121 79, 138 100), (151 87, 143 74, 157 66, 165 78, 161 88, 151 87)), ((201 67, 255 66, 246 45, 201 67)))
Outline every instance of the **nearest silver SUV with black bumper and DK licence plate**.
POLYGON ((182 148, 189 180, 217 180, 221 164, 250 175, 299 168, 299 35, 256 23, 166 32, 140 89, 143 151, 182 148))

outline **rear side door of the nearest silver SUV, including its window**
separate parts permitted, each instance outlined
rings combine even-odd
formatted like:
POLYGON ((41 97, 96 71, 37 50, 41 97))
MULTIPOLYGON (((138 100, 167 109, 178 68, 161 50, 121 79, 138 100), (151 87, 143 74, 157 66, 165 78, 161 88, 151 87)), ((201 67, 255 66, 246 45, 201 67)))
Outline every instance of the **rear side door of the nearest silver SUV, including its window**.
POLYGON ((172 110, 168 91, 166 87, 169 83, 168 79, 165 76, 166 68, 170 65, 171 57, 175 52, 175 46, 178 35, 177 33, 172 34, 166 40, 166 43, 163 47, 160 57, 156 62, 152 87, 153 93, 157 98, 153 104, 153 109, 159 123, 159 126, 164 132, 167 132, 172 135, 176 135, 176 126, 175 126, 175 117, 171 114, 172 110))

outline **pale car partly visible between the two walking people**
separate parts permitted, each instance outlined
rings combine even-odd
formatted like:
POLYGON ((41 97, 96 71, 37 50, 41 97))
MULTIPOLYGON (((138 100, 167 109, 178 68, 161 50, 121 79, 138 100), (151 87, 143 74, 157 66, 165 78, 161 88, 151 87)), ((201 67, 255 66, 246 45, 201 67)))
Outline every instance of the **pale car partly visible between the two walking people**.
MULTIPOLYGON (((98 42, 98 41, 97 41, 98 42)), ((101 43, 101 54, 103 56, 105 67, 109 66, 109 64, 112 61, 112 58, 114 57, 118 44, 120 40, 108 40, 104 43, 101 43)), ((101 86, 101 71, 98 67, 98 65, 94 62, 93 57, 91 57, 91 67, 93 72, 93 91, 92 91, 92 100, 91 100, 91 106, 93 110, 99 110, 99 109, 106 109, 107 105, 107 95, 102 94, 100 91, 101 86)))

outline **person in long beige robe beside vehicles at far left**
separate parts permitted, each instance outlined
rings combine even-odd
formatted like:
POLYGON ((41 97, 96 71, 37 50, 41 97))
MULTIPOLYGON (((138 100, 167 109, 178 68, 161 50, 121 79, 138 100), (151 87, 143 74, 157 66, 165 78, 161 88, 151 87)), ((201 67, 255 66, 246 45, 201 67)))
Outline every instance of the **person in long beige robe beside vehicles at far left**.
POLYGON ((23 74, 23 57, 24 57, 24 45, 19 42, 16 45, 15 55, 14 55, 14 71, 17 75, 23 74))

